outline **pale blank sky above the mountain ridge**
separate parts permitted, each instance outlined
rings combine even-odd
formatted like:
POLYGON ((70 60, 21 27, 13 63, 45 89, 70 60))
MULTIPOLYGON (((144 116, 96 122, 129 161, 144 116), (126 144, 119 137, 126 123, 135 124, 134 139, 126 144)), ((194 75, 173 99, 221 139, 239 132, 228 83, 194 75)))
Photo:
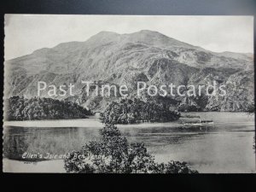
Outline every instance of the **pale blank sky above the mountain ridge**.
POLYGON ((4 24, 5 60, 102 31, 152 30, 215 52, 253 53, 253 16, 5 15, 4 24))

